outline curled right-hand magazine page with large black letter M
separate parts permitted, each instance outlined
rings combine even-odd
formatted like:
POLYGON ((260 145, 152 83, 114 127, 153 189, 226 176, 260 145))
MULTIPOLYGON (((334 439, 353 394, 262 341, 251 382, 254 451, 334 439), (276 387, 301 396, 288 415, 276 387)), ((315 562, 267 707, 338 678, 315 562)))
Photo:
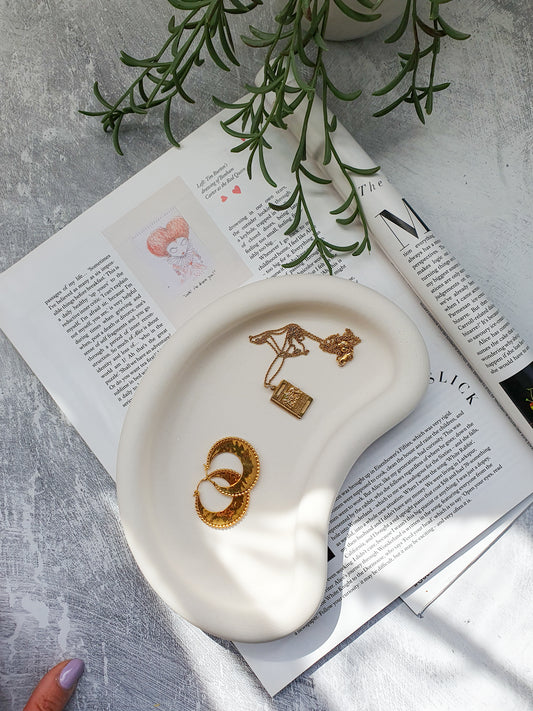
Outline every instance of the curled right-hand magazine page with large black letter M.
MULTIPOLYGON (((288 119, 295 135, 302 128, 303 113, 300 106, 288 119)), ((334 161, 322 165, 322 126, 322 105, 315 100, 306 134, 309 155, 322 166, 344 201, 352 185, 334 161)), ((349 165, 375 167, 341 124, 337 125, 333 141, 349 165)), ((382 171, 371 176, 352 174, 352 181, 375 242, 533 446, 531 348, 382 171)))

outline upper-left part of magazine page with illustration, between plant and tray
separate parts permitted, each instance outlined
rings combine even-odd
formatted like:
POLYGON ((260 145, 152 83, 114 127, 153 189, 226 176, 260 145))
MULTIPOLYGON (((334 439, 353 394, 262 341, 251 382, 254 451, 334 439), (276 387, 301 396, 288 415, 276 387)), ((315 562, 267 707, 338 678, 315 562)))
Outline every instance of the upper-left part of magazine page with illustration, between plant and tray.
MULTIPOLYGON (((280 238, 291 218, 268 202, 287 188, 249 181, 219 120, 0 275, 0 326, 113 478, 127 405, 161 345, 218 296, 284 273, 308 237, 280 238)), ((316 257, 301 271, 321 268, 316 257)))

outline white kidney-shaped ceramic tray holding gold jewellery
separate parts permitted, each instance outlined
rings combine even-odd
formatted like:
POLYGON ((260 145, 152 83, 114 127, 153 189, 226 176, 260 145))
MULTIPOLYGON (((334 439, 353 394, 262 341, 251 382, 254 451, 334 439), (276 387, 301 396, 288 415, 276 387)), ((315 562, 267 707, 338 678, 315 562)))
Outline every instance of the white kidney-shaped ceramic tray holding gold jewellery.
MULTIPOLYGON (((149 583, 222 638, 262 642, 301 627, 324 593, 329 515, 346 474, 417 405, 428 378, 412 321, 344 279, 267 279, 201 311, 150 365, 120 441, 120 515, 149 583), (249 340, 291 322, 320 337, 350 328, 361 338, 342 368, 312 341, 308 355, 285 362, 278 380, 313 397, 302 419, 270 401, 263 378, 274 353, 249 340), (244 517, 215 529, 197 515, 193 492, 211 446, 227 436, 255 448, 261 471, 244 517)), ((218 459, 217 468, 239 469, 233 455, 218 459)), ((228 505, 207 488, 220 499, 206 499, 208 508, 228 505)))

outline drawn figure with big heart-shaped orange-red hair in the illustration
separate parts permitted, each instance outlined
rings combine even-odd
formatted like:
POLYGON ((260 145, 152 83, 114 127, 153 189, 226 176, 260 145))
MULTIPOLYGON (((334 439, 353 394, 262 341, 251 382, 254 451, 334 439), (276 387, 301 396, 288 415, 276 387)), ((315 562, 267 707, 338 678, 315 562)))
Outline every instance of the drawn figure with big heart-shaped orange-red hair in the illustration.
POLYGON ((183 217, 175 217, 165 227, 150 233, 146 246, 156 257, 165 257, 180 282, 200 276, 205 264, 189 239, 189 225, 183 217))

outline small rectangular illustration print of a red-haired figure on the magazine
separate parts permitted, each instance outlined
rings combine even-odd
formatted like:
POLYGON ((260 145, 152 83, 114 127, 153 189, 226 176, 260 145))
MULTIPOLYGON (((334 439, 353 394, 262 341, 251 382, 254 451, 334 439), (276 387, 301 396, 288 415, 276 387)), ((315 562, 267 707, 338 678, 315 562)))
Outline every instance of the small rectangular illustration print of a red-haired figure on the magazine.
MULTIPOLYGON (((233 197, 236 181, 233 176, 228 181, 227 198, 233 197)), ((148 195, 103 235, 131 278, 176 327, 251 276, 181 178, 148 195)))

